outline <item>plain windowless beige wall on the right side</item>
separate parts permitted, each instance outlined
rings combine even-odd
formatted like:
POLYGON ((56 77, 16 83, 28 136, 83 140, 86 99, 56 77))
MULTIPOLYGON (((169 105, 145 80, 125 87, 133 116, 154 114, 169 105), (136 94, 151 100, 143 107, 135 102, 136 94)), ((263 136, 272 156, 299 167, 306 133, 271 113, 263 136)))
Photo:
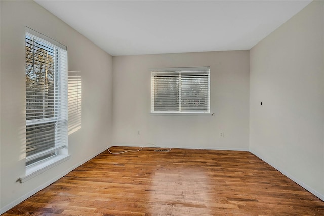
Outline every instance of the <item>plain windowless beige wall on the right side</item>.
POLYGON ((251 49, 250 151, 324 200, 323 27, 314 1, 251 49))

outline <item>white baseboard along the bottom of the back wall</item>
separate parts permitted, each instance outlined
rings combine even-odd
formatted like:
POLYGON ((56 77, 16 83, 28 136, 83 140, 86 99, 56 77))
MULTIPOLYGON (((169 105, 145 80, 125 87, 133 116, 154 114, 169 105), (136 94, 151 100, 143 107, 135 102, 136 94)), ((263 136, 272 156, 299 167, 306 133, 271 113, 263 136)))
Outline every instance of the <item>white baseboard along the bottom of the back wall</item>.
POLYGON ((153 145, 150 143, 147 144, 129 144, 129 143, 123 143, 123 144, 112 144, 112 146, 129 146, 129 147, 152 147, 152 148, 175 148, 175 149, 205 149, 205 150, 229 150, 229 151, 249 151, 249 149, 245 148, 224 148, 224 147, 210 147, 210 146, 159 146, 159 145, 153 145), (157 147, 158 146, 158 147, 157 147))

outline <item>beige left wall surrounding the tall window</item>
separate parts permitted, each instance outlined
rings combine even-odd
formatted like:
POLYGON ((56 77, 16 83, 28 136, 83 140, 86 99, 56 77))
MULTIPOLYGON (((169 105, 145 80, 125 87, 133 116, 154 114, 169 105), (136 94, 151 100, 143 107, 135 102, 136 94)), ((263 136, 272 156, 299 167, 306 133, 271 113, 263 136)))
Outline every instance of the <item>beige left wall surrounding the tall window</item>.
POLYGON ((3 212, 111 145, 112 57, 33 1, 1 1, 0 7, 3 212), (82 77, 82 124, 68 137, 68 161, 20 184, 16 181, 25 174, 25 26, 68 47, 68 70, 82 77))

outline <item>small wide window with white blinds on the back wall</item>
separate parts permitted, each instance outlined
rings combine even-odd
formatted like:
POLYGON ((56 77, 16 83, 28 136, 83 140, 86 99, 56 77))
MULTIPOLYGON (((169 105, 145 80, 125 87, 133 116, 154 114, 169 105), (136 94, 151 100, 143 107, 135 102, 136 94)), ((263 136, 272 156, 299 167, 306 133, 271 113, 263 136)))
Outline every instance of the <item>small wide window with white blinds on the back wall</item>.
POLYGON ((210 113, 210 68, 152 70, 152 113, 210 113))

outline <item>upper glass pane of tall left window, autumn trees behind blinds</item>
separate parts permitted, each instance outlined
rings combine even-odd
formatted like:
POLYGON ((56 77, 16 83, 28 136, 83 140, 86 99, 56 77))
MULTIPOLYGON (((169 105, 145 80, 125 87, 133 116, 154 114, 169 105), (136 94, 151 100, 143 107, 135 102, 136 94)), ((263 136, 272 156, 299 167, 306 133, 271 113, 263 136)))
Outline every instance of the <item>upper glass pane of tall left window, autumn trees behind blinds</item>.
POLYGON ((54 48, 26 36, 26 120, 53 118, 54 48))

